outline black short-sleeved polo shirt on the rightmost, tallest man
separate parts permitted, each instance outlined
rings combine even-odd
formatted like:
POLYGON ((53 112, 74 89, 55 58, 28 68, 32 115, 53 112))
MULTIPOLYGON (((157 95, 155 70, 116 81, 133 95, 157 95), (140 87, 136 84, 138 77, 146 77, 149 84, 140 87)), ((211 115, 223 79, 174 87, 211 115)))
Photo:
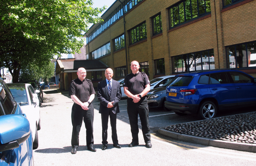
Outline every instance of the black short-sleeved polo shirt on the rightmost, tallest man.
POLYGON ((136 74, 130 73, 124 79, 124 87, 128 87, 131 94, 136 95, 142 93, 145 86, 150 84, 147 74, 138 72, 136 74))

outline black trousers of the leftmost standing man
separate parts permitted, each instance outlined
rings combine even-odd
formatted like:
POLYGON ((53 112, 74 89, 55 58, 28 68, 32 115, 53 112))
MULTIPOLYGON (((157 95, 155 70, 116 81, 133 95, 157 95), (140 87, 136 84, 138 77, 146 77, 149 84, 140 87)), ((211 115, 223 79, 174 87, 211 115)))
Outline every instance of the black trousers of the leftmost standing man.
POLYGON ((74 104, 72 107, 71 120, 73 125, 71 145, 72 148, 78 148, 79 146, 79 132, 82 126, 82 122, 85 122, 86 128, 86 145, 87 148, 93 146, 93 117, 94 108, 90 104, 88 110, 84 110, 80 105, 74 104))

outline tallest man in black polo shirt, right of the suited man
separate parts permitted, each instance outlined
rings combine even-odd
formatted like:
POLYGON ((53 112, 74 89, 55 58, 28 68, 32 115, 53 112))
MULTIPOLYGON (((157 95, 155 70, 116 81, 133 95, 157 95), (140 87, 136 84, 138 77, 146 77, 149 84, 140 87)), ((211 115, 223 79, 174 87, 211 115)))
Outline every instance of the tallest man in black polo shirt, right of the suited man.
POLYGON ((151 148, 150 128, 148 124, 148 105, 147 93, 150 90, 150 82, 147 74, 139 72, 138 61, 131 62, 132 73, 128 74, 124 79, 124 93, 128 96, 127 113, 129 116, 132 142, 129 147, 134 147, 139 144, 138 140, 138 114, 142 125, 142 133, 147 148, 151 148))

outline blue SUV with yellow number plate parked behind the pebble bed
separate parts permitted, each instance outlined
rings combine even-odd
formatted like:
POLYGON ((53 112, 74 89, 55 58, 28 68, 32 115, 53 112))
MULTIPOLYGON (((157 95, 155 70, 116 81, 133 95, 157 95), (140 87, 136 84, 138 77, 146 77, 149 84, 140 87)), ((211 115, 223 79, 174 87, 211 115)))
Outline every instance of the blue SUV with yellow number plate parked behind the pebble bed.
POLYGON ((165 107, 177 115, 210 119, 221 110, 256 105, 256 78, 234 69, 179 74, 166 91, 165 107))

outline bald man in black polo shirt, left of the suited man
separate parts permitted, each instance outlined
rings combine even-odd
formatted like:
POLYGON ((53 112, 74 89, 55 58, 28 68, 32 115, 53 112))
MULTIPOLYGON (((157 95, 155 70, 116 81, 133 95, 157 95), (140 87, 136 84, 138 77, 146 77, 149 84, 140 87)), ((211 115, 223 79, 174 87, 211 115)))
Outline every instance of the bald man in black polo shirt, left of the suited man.
POLYGON ((94 108, 91 102, 94 99, 95 91, 93 89, 93 84, 91 80, 85 79, 86 70, 84 68, 79 68, 77 70, 78 78, 71 81, 69 87, 69 96, 74 101, 72 107, 71 120, 73 125, 72 130, 72 150, 71 153, 75 154, 76 149, 79 146, 79 132, 84 119, 86 128, 86 145, 87 149, 96 152, 93 147, 93 117, 94 108))

